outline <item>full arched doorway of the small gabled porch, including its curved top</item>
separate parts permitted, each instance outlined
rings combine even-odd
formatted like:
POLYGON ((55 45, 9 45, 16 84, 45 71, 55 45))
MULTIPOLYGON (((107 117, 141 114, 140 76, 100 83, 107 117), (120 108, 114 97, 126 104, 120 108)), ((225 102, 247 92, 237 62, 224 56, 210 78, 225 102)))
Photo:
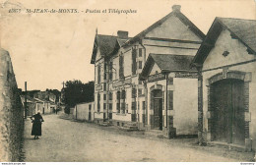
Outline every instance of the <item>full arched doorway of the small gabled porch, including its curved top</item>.
POLYGON ((154 109, 153 128, 162 130, 162 91, 160 89, 152 90, 152 103, 154 109))

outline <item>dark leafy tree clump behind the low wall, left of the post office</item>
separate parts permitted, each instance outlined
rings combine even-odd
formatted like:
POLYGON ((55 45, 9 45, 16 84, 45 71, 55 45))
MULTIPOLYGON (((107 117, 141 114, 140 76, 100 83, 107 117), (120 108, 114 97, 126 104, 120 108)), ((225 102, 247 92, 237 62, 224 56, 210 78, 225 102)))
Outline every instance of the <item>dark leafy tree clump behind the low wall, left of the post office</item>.
POLYGON ((95 83, 82 83, 81 81, 67 81, 64 88, 64 102, 69 107, 74 107, 81 102, 94 101, 95 83))

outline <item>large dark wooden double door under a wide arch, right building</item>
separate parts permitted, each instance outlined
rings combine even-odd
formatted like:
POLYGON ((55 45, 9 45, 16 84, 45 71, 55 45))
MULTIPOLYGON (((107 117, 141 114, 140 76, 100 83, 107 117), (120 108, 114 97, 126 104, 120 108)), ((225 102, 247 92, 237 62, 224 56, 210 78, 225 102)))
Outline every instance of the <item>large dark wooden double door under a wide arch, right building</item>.
POLYGON ((211 90, 212 140, 243 145, 244 82, 239 79, 219 80, 211 84, 211 90))

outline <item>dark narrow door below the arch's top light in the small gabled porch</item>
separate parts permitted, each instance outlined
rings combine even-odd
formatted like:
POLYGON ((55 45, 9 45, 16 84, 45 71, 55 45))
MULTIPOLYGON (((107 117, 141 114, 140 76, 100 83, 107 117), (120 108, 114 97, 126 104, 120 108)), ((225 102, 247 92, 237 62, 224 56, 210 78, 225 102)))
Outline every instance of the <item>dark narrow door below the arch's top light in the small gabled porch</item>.
POLYGON ((154 99, 154 128, 162 130, 162 99, 154 99))

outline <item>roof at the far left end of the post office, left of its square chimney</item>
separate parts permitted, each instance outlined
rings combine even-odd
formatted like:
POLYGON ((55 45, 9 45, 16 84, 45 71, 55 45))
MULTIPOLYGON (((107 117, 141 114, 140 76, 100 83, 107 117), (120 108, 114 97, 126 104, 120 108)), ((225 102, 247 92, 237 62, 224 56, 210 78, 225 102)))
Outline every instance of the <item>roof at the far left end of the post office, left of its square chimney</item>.
POLYGON ((116 37, 117 36, 113 35, 96 34, 91 64, 95 64, 97 48, 99 49, 100 54, 103 56, 107 56, 113 51, 116 43, 116 37))

